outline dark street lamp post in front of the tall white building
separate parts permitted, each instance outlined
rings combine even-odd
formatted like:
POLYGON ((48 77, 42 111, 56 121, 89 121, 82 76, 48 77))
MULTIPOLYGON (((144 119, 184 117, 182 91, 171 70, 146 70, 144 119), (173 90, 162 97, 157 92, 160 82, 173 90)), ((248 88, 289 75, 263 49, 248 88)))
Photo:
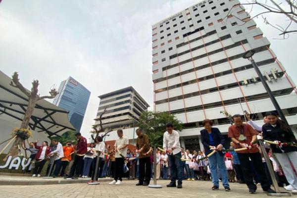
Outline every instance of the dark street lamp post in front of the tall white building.
POLYGON ((255 51, 253 49, 248 50, 243 55, 243 58, 246 58, 246 59, 250 60, 252 66, 253 66, 254 70, 256 71, 257 75, 259 76, 259 78, 260 78, 260 80, 261 80, 261 82, 262 82, 262 84, 263 84, 263 86, 264 86, 267 94, 269 95, 269 98, 271 99, 271 101, 272 101, 272 103, 273 103, 273 105, 274 105, 277 113, 279 114, 279 116, 281 117, 281 119, 289 126, 288 121, 287 121, 285 115, 283 114, 281 107, 279 106, 278 102, 276 101, 275 97, 273 96, 273 94, 272 94, 272 92, 271 92, 268 84, 266 83, 266 80, 264 79, 261 71, 258 68, 257 63, 252 59, 252 55, 254 53, 255 53, 255 51))

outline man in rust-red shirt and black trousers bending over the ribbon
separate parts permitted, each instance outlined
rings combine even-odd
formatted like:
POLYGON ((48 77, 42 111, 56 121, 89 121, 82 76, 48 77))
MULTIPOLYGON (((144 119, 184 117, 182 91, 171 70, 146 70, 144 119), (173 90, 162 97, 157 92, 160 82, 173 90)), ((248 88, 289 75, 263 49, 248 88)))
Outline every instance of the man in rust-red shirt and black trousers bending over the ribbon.
POLYGON ((248 148, 246 150, 237 151, 237 153, 249 193, 256 194, 257 190, 257 186, 253 183, 249 159, 251 159, 251 163, 259 176, 263 191, 275 193, 275 191, 270 188, 259 149, 256 147, 248 147, 257 139, 257 132, 250 125, 243 123, 243 117, 241 115, 236 114, 232 118, 234 125, 229 127, 228 137, 234 142, 235 149, 248 148))

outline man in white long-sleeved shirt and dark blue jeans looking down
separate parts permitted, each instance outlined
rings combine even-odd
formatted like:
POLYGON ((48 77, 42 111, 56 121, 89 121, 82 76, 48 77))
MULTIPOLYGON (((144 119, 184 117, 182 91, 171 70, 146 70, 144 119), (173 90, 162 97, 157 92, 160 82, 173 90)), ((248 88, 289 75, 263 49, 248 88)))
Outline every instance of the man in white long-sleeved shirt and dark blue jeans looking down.
POLYGON ((166 132, 163 135, 163 148, 167 150, 168 162, 170 166, 171 182, 167 187, 183 188, 183 166, 182 166, 182 153, 181 144, 179 142, 179 134, 173 130, 173 124, 166 124, 166 132), (176 186, 176 173, 177 173, 177 186, 176 186))

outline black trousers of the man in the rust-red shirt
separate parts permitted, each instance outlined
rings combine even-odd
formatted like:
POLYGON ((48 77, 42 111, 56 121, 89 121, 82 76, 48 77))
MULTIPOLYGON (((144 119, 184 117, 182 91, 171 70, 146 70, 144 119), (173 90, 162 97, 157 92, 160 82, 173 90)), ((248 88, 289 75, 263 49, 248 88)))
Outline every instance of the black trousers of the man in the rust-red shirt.
POLYGON ((262 163, 261 154, 259 152, 255 153, 238 153, 238 158, 241 164, 241 168, 243 171, 243 175, 245 178, 245 182, 249 190, 256 190, 257 186, 253 183, 253 177, 251 168, 249 165, 249 158, 251 159, 251 163, 255 167, 255 171, 259 176, 259 180, 261 183, 261 187, 263 190, 267 190, 270 188, 270 184, 265 174, 264 165, 262 163))

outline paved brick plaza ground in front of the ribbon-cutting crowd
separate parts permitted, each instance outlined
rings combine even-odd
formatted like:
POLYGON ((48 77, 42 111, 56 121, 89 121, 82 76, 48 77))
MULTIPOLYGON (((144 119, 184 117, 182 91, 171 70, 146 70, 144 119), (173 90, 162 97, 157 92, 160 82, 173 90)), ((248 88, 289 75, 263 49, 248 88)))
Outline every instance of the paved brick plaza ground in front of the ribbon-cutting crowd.
MULTIPOLYGON (((157 181, 162 189, 151 189, 144 186, 135 186, 137 181, 123 181, 122 185, 87 184, 57 184, 33 186, 0 186, 0 198, 267 198, 260 190, 256 195, 247 193, 244 184, 231 183, 231 191, 212 191, 211 182, 184 181, 183 189, 167 188, 168 180, 157 181)), ((282 191, 285 191, 282 188, 282 191)), ((297 197, 293 195, 292 197, 297 197)))

